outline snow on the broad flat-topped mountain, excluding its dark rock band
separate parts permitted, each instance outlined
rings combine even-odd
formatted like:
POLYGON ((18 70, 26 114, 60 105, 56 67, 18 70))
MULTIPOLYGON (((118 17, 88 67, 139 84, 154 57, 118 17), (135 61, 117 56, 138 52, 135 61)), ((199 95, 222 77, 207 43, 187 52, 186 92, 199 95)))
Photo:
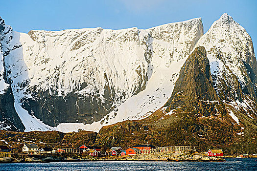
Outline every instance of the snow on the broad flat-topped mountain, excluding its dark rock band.
MULTIPOLYGON (((109 30, 86 28, 62 31, 13 32, 14 49, 6 58, 15 96, 15 108, 28 130, 79 128, 99 130, 127 119, 140 119, 162 107, 171 95, 181 66, 203 35, 200 18, 164 24, 150 29, 109 30), (86 83, 86 86, 82 86, 86 83), (106 88, 111 97, 106 99, 106 88), (111 99, 106 116, 95 111, 87 124, 59 123, 49 127, 26 111, 23 99, 49 92, 63 99, 73 93, 80 98, 98 94, 102 104, 111 99), (92 122, 91 121, 91 122, 92 122)), ((53 104, 54 105, 54 104, 53 104)), ((54 106, 53 106, 54 107, 54 106)), ((79 106, 77 106, 79 108, 79 106)), ((51 114, 51 109, 48 110, 51 114)), ((51 119, 51 118, 49 118, 51 119)))

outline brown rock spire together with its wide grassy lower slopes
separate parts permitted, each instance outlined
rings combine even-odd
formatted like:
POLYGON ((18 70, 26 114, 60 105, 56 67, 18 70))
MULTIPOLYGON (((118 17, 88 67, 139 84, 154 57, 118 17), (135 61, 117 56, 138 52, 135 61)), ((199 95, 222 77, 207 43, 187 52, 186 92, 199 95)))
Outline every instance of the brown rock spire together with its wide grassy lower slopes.
POLYGON ((257 115, 231 108, 213 88, 210 62, 204 47, 196 47, 180 70, 164 107, 142 120, 103 127, 96 144, 107 147, 150 143, 156 146, 190 145, 235 150, 257 148, 257 115), (200 145, 200 146, 199 146, 200 145))

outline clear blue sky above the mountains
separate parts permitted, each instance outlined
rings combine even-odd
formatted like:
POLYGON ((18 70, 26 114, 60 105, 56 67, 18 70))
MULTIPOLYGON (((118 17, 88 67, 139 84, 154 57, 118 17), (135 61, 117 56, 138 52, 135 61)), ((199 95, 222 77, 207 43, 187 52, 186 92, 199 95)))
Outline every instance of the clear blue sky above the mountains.
POLYGON ((204 32, 227 12, 257 52, 257 0, 2 0, 0 16, 15 31, 102 27, 150 28, 202 17, 204 32))

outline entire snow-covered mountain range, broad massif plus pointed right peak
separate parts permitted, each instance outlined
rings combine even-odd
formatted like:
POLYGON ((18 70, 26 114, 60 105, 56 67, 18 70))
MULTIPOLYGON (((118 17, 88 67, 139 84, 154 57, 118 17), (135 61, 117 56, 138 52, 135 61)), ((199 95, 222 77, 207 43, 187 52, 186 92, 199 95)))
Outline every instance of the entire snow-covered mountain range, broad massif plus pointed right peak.
POLYGON ((1 34, 1 50, 8 48, 1 77, 6 77, 3 84, 11 85, 25 131, 98 131, 145 118, 164 106, 182 65, 199 45, 208 51, 218 95, 231 104, 238 100, 237 105, 251 110, 249 115, 256 111, 248 107, 257 100, 252 41, 227 14, 205 35, 201 18, 145 30, 11 30, 8 35, 5 40, 1 34))

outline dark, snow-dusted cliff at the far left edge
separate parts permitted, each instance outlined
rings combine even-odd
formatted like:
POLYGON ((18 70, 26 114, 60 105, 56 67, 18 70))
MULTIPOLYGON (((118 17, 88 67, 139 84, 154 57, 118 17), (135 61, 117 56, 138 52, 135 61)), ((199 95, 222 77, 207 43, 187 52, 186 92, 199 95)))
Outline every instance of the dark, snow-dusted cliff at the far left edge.
POLYGON ((0 18, 0 129, 23 131, 24 126, 14 108, 14 97, 10 83, 6 79, 4 59, 12 49, 12 28, 0 18))

